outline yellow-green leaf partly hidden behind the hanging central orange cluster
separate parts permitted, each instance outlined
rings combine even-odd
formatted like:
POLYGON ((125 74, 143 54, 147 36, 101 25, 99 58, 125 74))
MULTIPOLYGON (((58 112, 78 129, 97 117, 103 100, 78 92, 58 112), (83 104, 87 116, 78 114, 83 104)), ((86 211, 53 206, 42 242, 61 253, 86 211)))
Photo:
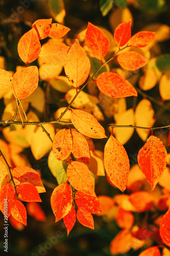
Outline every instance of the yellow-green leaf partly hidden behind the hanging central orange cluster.
POLYGON ((50 168, 54 177, 57 179, 59 185, 68 180, 66 175, 66 164, 64 161, 57 160, 53 155, 53 151, 51 151, 48 156, 48 167, 50 168))

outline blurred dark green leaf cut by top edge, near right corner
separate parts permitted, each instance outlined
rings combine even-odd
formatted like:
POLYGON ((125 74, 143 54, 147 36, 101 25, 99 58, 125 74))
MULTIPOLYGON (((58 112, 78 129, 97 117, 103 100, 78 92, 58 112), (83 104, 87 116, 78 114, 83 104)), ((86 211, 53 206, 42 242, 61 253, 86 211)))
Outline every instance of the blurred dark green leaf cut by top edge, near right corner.
POLYGON ((165 0, 137 0, 139 8, 148 12, 161 12, 166 8, 165 0))

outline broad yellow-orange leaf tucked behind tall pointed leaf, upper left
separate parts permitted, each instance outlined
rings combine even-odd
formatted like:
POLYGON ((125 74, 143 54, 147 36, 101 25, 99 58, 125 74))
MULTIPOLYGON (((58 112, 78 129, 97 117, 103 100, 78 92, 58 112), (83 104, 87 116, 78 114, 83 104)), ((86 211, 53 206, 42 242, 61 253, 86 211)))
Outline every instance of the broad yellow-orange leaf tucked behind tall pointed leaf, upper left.
POLYGON ((64 44, 49 42, 41 47, 39 56, 47 64, 60 65, 65 62, 68 49, 64 44))

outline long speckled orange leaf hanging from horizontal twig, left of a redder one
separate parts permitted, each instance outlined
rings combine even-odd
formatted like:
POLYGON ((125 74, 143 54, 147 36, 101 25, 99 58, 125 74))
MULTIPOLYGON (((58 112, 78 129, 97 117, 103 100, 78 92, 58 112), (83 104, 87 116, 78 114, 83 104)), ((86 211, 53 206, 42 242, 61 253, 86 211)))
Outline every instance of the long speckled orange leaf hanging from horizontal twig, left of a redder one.
POLYGON ((126 150, 112 135, 105 145, 104 164, 111 182, 121 191, 126 189, 130 163, 126 150))

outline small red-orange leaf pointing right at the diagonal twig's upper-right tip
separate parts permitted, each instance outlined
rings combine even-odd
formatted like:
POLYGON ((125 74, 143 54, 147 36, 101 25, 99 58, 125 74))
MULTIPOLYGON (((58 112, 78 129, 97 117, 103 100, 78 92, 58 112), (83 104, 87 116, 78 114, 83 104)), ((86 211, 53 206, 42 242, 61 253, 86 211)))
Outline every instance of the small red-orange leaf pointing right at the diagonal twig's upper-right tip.
POLYGON ((140 31, 134 34, 131 38, 131 46, 134 47, 145 47, 152 42, 155 38, 155 32, 151 31, 140 31))

